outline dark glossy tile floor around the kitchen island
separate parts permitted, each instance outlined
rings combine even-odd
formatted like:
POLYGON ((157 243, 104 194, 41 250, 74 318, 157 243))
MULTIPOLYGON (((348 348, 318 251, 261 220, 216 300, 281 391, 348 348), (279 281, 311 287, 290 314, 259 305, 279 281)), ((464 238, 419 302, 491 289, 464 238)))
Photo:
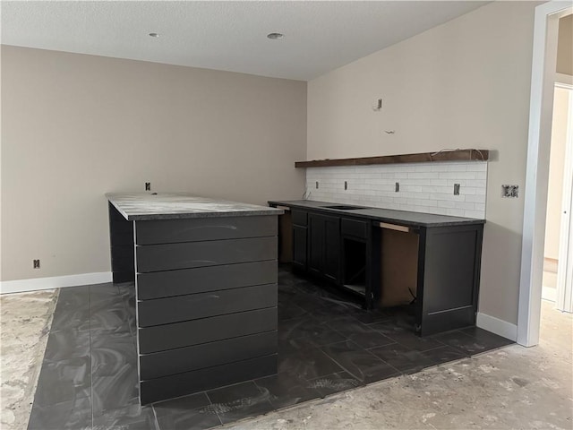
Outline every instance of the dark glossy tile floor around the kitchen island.
POLYGON ((512 343, 470 328, 419 338, 407 309, 365 312, 279 270, 278 374, 139 407, 133 285, 64 288, 30 430, 206 429, 512 343))

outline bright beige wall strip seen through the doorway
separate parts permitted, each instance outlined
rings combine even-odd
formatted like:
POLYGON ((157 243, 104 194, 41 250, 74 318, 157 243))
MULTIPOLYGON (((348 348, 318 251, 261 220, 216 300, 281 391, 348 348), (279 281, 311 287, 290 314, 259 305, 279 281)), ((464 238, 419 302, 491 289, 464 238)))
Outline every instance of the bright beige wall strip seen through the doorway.
POLYGON ((556 87, 553 97, 552 145, 549 161, 547 221, 545 222, 545 258, 559 257, 563 168, 569 117, 569 90, 556 87))

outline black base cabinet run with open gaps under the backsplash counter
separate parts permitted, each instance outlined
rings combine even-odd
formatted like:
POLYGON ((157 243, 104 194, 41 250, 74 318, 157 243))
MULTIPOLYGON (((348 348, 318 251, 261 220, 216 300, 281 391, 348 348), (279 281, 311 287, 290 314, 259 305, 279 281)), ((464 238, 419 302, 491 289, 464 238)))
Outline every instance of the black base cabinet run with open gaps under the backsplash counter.
POLYGON ((365 309, 412 306, 413 330, 422 336, 475 325, 483 220, 440 216, 433 224, 388 223, 312 203, 292 207, 293 267, 299 272, 353 293, 365 309))

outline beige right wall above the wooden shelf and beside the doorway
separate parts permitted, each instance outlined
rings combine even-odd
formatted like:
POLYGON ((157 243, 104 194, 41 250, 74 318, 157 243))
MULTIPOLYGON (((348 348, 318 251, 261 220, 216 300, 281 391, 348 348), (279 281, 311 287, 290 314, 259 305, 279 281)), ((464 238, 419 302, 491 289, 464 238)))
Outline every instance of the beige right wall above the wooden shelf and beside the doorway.
POLYGON ((537 4, 487 4, 308 86, 308 159, 494 151, 479 306, 514 324, 537 4), (502 199, 502 184, 520 185, 519 198, 502 199))

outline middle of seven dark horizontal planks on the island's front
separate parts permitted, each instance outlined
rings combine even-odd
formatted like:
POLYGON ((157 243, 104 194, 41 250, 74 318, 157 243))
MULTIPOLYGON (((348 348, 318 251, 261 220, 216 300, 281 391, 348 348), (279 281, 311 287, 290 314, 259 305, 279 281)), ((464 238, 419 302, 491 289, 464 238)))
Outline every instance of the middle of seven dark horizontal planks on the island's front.
POLYGON ((277 284, 224 289, 137 302, 139 327, 197 320, 277 306, 277 284))

